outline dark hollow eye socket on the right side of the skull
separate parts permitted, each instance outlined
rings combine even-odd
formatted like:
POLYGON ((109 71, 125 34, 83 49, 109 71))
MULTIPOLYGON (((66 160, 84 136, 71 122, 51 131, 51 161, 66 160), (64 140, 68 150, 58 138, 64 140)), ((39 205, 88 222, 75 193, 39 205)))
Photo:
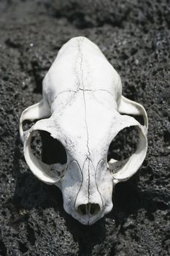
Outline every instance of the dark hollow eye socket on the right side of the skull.
POLYGON ((131 157, 136 151, 138 142, 139 135, 136 127, 122 129, 110 143, 107 161, 109 162, 112 158, 122 161, 131 157))

